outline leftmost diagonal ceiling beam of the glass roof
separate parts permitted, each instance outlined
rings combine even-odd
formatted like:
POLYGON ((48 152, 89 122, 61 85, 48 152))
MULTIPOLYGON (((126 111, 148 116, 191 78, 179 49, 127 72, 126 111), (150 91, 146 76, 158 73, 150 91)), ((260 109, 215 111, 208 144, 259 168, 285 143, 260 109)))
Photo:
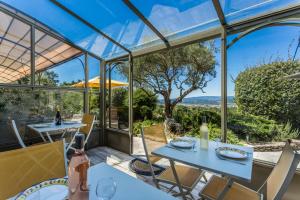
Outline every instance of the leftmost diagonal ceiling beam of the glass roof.
POLYGON ((54 3, 56 6, 58 6, 59 8, 63 9, 65 12, 67 12, 71 16, 75 17, 77 20, 79 20, 82 23, 84 23, 89 28, 93 29, 94 31, 96 31, 97 33, 99 33, 100 35, 102 35, 103 37, 105 37, 106 39, 108 39, 109 41, 111 41, 112 43, 114 43, 115 45, 117 45, 118 47, 120 47, 121 49, 123 49, 124 51, 126 51, 128 53, 131 53, 131 51, 129 49, 127 49, 126 47, 124 47, 119 42, 115 41, 114 39, 112 39, 110 36, 108 36, 107 34, 105 34, 104 32, 102 32, 100 29, 98 29, 96 26, 94 26, 90 22, 88 22, 85 19, 83 19, 82 17, 80 17, 75 12, 71 11, 69 8, 65 7, 64 5, 62 5, 61 3, 57 2, 56 0, 50 0, 50 1, 52 3, 54 3))

